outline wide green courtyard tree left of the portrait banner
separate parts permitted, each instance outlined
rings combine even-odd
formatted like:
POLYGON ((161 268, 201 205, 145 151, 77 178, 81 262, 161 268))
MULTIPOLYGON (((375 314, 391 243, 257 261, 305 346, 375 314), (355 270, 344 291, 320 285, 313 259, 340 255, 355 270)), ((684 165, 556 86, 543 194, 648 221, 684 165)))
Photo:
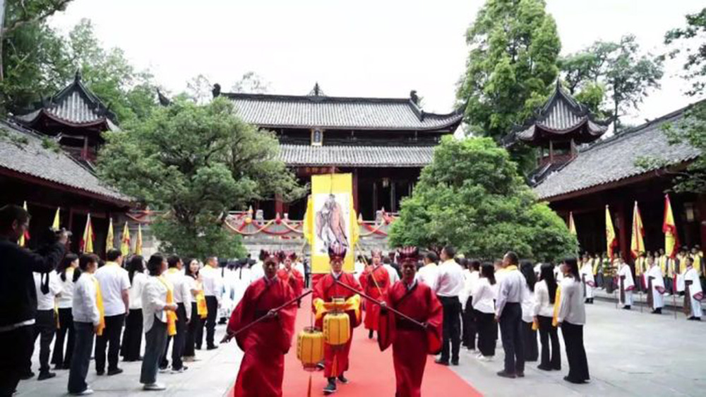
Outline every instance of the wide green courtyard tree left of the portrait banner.
POLYGON ((243 254, 223 215, 254 200, 304 194, 277 160, 273 133, 242 122, 232 102, 175 100, 142 122, 107 134, 100 175, 150 208, 164 211, 154 225, 162 249, 204 257, 243 254))

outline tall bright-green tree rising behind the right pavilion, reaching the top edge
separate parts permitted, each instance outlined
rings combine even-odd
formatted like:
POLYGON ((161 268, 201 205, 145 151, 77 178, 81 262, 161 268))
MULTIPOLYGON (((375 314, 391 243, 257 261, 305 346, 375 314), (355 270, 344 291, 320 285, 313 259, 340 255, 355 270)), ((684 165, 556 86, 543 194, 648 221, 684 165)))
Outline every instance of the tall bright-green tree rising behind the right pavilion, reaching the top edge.
POLYGON ((468 28, 457 97, 469 132, 498 141, 551 92, 561 42, 543 0, 488 0, 468 28))

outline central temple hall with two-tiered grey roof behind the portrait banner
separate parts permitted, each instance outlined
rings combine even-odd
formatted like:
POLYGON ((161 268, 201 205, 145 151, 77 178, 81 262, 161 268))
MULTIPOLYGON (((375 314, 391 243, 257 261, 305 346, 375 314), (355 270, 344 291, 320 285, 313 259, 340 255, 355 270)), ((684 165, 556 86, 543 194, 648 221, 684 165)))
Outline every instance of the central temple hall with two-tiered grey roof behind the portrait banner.
MULTIPOLYGON (((459 126, 462 112, 424 112, 417 94, 409 97, 333 97, 316 84, 308 95, 220 93, 233 101, 245 122, 274 131, 280 158, 301 182, 313 174, 350 172, 356 211, 373 219, 385 208, 396 212, 411 194, 441 137, 459 126)), ((256 204, 264 218, 288 213, 301 219, 306 199, 256 204)))

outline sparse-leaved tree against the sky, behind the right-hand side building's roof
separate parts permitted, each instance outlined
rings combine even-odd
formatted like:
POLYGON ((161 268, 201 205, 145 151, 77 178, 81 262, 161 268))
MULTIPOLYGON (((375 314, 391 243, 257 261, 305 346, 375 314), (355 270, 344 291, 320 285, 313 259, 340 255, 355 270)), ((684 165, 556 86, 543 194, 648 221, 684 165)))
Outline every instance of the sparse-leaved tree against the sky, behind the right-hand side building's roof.
POLYGON ((620 117, 659 88, 663 61, 662 56, 641 54, 635 36, 626 35, 620 42, 594 42, 559 64, 570 93, 593 112, 612 116, 614 130, 620 131, 620 117))

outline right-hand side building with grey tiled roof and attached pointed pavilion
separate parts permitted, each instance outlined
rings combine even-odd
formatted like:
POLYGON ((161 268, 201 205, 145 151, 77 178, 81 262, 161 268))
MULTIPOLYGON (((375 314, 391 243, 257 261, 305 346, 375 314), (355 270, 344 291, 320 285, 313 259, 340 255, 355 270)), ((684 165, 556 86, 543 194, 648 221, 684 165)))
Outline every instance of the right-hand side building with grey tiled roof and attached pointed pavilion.
MULTIPOLYGON (((505 141, 539 148, 537 170, 529 182, 538 198, 568 220, 573 213, 582 251, 606 251, 605 208, 609 206, 623 258, 630 258, 633 206, 638 202, 645 228, 645 248, 664 247, 664 194, 698 150, 670 145, 664 126, 679 128, 686 109, 621 131, 608 138, 606 122, 597 120, 557 86, 546 105, 505 141), (664 167, 645 169, 641 158, 664 167)), ((706 198, 670 191, 681 244, 706 243, 706 198)))

